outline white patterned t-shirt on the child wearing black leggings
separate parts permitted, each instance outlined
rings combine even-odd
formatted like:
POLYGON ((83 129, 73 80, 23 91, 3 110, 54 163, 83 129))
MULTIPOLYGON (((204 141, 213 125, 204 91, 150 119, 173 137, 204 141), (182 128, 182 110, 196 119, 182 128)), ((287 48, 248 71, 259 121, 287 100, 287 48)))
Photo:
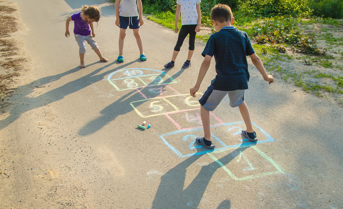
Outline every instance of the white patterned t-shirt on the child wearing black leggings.
POLYGON ((181 24, 182 25, 196 25, 198 24, 197 4, 200 0, 177 0, 176 3, 180 5, 181 24))

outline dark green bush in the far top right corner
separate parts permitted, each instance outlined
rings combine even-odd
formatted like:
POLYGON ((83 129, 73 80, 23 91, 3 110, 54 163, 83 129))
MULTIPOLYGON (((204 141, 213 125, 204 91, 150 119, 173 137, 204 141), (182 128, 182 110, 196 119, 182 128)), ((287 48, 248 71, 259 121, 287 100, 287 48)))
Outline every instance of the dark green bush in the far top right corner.
POLYGON ((331 17, 340 19, 343 17, 342 0, 314 0, 309 4, 312 14, 318 17, 331 17))

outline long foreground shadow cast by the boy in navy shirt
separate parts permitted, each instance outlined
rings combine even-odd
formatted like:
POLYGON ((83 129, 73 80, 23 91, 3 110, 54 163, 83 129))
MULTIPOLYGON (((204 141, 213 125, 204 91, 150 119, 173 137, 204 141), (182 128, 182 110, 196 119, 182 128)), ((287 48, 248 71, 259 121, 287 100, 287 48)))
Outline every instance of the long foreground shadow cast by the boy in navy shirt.
MULTIPOLYGON (((250 146, 256 143, 242 143, 237 149, 219 159, 224 165, 232 161, 250 146)), ((187 160, 176 165, 161 177, 152 208, 198 208, 203 194, 214 172, 221 168, 217 162, 212 162, 201 168, 192 183, 184 189, 186 169, 201 155, 189 157, 187 160)), ((230 208, 230 201, 224 200, 218 208, 230 208)))

